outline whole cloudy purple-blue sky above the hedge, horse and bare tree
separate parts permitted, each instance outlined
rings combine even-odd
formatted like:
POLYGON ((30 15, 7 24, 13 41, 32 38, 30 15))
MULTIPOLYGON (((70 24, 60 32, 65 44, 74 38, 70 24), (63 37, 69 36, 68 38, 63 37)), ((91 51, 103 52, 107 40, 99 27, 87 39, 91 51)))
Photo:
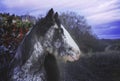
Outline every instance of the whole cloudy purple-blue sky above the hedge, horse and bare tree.
POLYGON ((50 8, 84 16, 99 38, 120 38, 120 0, 0 0, 0 12, 17 15, 36 16, 50 8))

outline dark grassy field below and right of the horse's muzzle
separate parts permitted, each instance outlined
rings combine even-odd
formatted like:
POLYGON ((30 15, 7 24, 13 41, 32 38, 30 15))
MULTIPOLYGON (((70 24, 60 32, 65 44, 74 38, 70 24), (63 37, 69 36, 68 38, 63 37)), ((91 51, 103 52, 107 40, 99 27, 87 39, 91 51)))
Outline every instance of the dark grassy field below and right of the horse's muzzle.
POLYGON ((95 53, 65 64, 65 81, 120 81, 120 52, 95 53))

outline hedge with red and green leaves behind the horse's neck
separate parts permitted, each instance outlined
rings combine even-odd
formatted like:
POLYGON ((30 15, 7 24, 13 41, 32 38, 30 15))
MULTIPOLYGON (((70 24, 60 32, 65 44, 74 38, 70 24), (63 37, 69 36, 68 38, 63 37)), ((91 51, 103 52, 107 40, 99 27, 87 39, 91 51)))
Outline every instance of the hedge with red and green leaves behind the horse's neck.
POLYGON ((20 16, 0 13, 0 81, 7 81, 9 63, 32 25, 32 22, 25 21, 20 16))

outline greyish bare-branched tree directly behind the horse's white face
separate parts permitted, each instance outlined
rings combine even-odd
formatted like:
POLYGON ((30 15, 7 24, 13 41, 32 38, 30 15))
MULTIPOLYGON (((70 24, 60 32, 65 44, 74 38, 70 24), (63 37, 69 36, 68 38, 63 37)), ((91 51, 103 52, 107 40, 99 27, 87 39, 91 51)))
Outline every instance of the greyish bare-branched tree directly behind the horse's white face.
POLYGON ((62 13, 60 18, 62 24, 73 35, 82 52, 88 53, 104 50, 102 42, 93 34, 91 26, 87 24, 83 16, 68 12, 62 13))

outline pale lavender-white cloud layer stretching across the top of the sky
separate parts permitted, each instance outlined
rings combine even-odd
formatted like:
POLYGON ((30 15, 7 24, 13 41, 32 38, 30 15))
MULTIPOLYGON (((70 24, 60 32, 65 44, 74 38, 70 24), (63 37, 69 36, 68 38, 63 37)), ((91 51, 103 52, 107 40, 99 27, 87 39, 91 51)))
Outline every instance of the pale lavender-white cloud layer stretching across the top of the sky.
MULTIPOLYGON (((102 21, 101 17, 103 16, 106 21, 109 21, 109 19, 113 20, 113 17, 116 16, 115 14, 120 12, 118 8, 120 6, 116 4, 118 2, 119 0, 12 0, 12 2, 11 0, 2 0, 2 3, 11 9, 26 8, 28 11, 32 11, 34 9, 47 10, 53 7, 61 11, 76 11, 80 15, 84 15, 88 21, 92 21, 89 22, 91 24, 95 24, 95 21, 102 21)), ((117 16, 119 15, 117 14, 117 16)))

